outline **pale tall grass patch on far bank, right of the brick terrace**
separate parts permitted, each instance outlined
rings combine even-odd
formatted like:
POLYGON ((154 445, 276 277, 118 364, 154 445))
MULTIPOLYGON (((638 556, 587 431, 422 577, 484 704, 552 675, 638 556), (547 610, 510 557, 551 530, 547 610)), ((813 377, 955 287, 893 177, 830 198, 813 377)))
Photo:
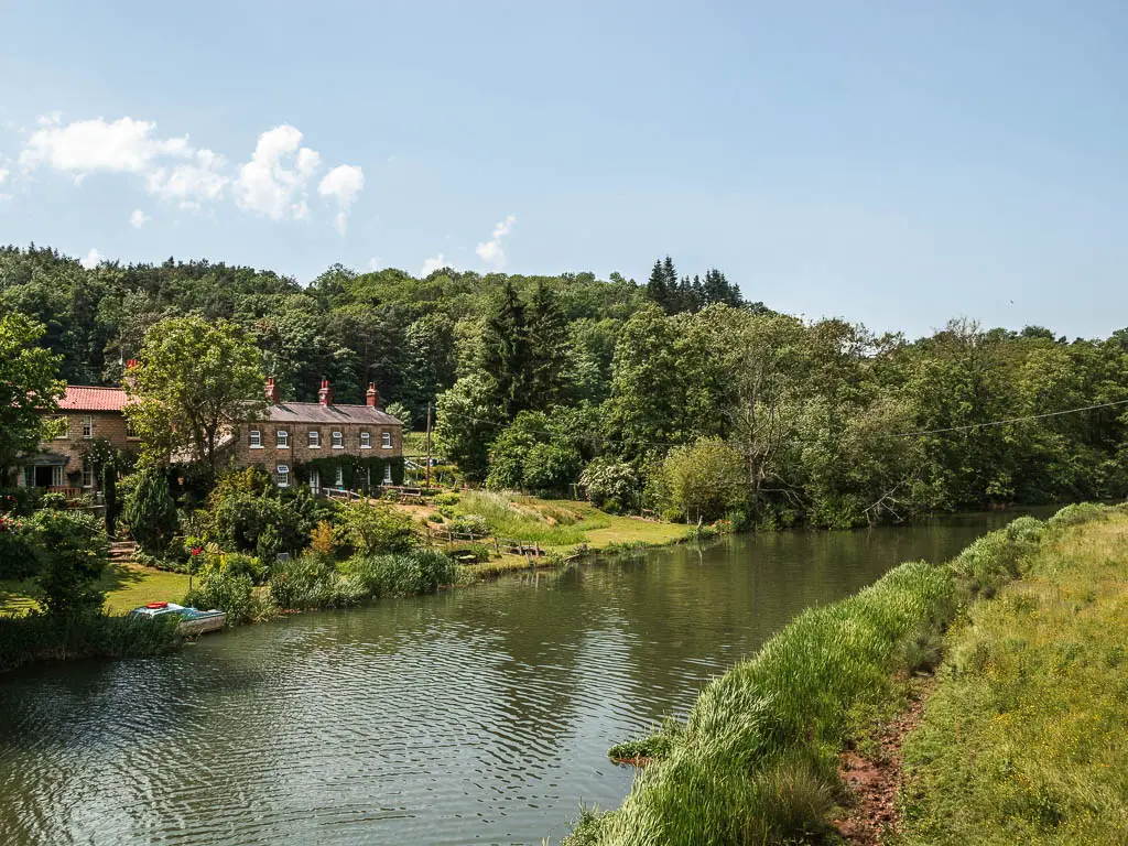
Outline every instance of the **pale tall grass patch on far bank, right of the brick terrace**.
POLYGON ((581 521, 580 514, 563 505, 488 491, 462 493, 458 511, 482 517, 490 530, 500 537, 546 546, 582 544, 588 539, 584 534, 588 529, 609 525, 599 518, 581 521))

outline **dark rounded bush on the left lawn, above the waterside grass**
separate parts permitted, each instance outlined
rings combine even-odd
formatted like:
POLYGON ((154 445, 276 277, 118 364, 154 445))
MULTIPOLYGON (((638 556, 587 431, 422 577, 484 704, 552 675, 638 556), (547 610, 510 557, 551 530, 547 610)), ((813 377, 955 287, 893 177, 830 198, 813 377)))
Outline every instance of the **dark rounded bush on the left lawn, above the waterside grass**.
POLYGON ((89 614, 102 608, 98 587, 109 564, 109 544, 96 518, 80 511, 44 509, 24 522, 36 559, 36 598, 52 615, 89 614))

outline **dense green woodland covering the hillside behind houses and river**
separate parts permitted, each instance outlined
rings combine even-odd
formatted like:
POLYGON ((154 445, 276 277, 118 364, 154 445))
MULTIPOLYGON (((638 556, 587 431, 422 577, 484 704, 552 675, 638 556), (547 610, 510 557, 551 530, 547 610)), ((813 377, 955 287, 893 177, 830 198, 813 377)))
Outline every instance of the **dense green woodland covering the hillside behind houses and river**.
POLYGON ((959 320, 876 336, 746 302, 721 271, 679 276, 669 257, 644 284, 336 265, 301 287, 7 248, 11 310, 87 384, 116 384, 164 317, 228 320, 288 398, 312 400, 326 376, 360 403, 374 380, 416 423, 437 402, 438 443, 468 479, 579 486, 613 508, 846 526, 1128 493, 1128 406, 1057 414, 1128 399, 1128 332, 1068 342, 959 320))

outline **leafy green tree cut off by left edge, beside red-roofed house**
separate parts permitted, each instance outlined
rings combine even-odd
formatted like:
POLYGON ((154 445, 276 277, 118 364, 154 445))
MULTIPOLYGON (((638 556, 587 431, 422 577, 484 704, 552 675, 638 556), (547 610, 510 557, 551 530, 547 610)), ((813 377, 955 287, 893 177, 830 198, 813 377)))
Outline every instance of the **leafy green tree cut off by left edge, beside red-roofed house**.
POLYGON ((64 384, 60 356, 41 347, 44 327, 6 309, 0 315, 0 483, 12 461, 42 440, 44 414, 55 411, 64 384))

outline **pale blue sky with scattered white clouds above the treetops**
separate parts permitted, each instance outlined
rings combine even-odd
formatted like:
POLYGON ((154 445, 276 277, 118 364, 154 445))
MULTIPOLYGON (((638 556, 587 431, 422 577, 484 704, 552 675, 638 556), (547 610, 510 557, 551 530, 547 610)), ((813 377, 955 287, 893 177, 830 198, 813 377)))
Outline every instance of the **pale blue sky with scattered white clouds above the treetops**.
POLYGON ((1122 2, 0 0, 0 29, 3 243, 302 281, 669 253, 879 331, 1128 325, 1122 2))

